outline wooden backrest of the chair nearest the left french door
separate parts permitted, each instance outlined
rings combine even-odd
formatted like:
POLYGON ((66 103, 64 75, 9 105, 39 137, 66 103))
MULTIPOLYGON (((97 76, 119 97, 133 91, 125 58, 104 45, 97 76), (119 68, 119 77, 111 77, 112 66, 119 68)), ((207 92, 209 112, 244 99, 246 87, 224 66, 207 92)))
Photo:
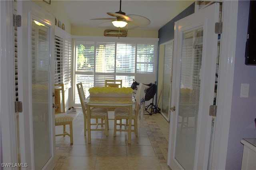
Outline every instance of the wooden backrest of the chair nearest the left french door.
POLYGON ((64 84, 54 84, 55 114, 65 113, 64 84))

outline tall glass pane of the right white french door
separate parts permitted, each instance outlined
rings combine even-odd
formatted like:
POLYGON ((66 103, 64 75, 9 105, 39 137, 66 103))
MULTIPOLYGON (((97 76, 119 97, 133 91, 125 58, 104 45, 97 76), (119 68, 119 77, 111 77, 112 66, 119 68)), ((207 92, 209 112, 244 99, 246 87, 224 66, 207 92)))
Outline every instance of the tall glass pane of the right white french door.
POLYGON ((180 74, 180 102, 175 158, 184 169, 194 168, 200 96, 203 28, 184 32, 180 74))

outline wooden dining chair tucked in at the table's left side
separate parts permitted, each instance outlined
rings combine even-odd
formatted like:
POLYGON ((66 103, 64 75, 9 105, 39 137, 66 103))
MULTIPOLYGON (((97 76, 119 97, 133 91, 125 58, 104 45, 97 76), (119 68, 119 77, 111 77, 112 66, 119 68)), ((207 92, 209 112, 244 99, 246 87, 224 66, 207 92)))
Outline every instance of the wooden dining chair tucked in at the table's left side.
MULTIPOLYGON (((92 128, 91 127, 91 131, 104 131, 106 133, 106 136, 108 136, 108 109, 106 108, 91 108, 91 114, 90 114, 90 125, 87 125, 87 111, 86 111, 86 105, 84 103, 85 100, 85 95, 84 95, 84 88, 82 83, 78 83, 76 84, 77 89, 78 89, 78 95, 80 98, 80 102, 81 102, 81 106, 82 106, 82 111, 84 114, 84 135, 86 135, 86 131, 87 131, 87 127, 86 126, 92 126, 92 125, 96 125, 96 128, 92 128), (96 121, 96 123, 92 123, 91 119, 102 119, 101 123, 98 123, 98 121, 96 121), (104 125, 104 128, 98 128, 98 125, 104 125)), ((102 127, 101 126, 101 127, 102 127)))

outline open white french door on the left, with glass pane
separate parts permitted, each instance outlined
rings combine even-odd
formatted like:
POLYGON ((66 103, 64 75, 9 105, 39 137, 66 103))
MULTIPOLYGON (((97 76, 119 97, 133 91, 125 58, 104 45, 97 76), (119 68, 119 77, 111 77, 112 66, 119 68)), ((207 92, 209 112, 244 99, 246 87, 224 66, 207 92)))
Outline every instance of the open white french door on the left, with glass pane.
POLYGON ((55 160, 54 16, 31 1, 18 1, 18 88, 21 162, 27 169, 53 169, 55 160), (23 130, 24 129, 24 130, 23 130), (22 137, 21 137, 22 136, 22 137))

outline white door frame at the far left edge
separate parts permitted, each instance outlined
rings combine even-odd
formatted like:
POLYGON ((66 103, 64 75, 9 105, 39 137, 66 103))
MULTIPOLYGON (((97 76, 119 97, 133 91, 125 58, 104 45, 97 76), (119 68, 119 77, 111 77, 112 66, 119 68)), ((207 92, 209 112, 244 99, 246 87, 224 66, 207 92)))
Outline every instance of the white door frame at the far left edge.
MULTIPOLYGON (((13 50, 13 6, 12 1, 0 1, 1 8, 1 57, 0 57, 0 111, 1 152, 3 163, 18 163, 16 142, 16 115, 14 109, 14 50, 13 50), (4 137, 3 137, 4 136, 4 137)), ((14 169, 14 167, 10 167, 14 169)))

